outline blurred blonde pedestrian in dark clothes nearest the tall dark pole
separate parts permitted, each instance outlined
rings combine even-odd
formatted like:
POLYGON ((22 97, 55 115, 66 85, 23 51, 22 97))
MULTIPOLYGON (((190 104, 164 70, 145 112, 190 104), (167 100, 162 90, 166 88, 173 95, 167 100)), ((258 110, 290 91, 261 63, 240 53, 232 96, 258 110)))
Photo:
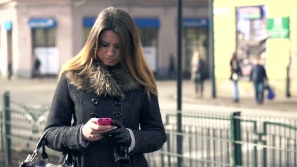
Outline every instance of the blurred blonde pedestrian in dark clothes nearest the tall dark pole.
POLYGON ((204 61, 200 58, 199 52, 195 51, 191 59, 191 80, 195 84, 195 97, 198 96, 199 85, 200 85, 200 97, 203 97, 203 67, 204 61))

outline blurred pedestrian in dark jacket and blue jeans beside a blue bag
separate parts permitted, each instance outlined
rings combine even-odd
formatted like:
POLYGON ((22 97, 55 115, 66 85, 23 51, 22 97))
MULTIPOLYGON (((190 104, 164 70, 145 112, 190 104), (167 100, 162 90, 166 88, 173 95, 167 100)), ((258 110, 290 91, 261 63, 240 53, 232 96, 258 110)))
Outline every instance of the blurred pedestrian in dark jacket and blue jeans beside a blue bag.
POLYGON ((254 59, 250 80, 254 82, 255 101, 257 104, 262 104, 264 102, 264 84, 265 82, 268 84, 268 78, 259 58, 254 59))

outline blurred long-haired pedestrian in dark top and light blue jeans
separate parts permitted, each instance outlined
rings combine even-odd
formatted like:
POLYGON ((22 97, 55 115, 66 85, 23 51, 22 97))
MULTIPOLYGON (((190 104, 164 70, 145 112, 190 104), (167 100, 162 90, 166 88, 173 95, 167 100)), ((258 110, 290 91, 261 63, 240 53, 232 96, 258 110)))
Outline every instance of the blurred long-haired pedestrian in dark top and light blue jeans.
POLYGON ((238 79, 241 76, 241 68, 237 59, 237 55, 234 52, 230 60, 231 76, 230 79, 233 82, 234 88, 234 103, 239 102, 239 91, 238 91, 238 79))

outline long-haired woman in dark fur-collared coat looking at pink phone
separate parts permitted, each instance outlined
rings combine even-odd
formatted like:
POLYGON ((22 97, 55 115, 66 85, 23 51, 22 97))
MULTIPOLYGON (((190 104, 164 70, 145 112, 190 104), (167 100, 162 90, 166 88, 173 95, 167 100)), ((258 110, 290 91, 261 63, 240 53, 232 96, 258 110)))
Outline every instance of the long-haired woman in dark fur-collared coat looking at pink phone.
POLYGON ((103 10, 83 49, 63 65, 47 128, 45 144, 70 154, 75 167, 148 167, 143 153, 166 142, 156 82, 125 11, 103 10), (106 117, 111 125, 96 124, 106 117))

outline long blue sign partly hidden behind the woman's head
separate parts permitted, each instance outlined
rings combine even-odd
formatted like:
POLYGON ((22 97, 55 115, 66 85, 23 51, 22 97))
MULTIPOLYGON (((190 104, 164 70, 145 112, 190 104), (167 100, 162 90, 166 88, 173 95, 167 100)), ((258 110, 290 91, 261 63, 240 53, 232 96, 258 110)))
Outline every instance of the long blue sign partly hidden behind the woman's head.
MULTIPOLYGON (((83 26, 92 27, 96 21, 96 17, 84 17, 83 26)), ((158 18, 134 18, 138 28, 159 28, 160 21, 158 18)))

